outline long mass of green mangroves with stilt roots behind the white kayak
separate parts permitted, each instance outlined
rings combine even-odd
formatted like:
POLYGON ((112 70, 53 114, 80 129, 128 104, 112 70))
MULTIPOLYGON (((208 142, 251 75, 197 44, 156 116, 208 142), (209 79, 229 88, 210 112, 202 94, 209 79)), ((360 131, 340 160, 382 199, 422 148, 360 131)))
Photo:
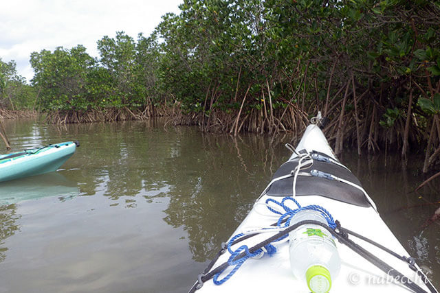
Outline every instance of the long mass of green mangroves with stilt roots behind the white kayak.
MULTIPOLYGON (((440 1, 185 0, 137 40, 34 52, 38 106, 56 122, 179 110, 206 131, 303 130, 318 110, 343 143, 440 154, 440 1)), ((3 96, 2 96, 3 97, 3 96)), ((2 101, 5 98, 3 97, 2 101)))

